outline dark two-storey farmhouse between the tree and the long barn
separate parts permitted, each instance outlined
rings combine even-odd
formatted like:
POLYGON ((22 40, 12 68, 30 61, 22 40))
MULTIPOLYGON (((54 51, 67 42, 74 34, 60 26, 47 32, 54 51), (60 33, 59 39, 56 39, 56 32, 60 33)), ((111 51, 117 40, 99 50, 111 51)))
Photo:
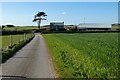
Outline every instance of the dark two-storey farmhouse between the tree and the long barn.
POLYGON ((50 23, 50 30, 63 30, 64 29, 64 22, 51 22, 50 23))

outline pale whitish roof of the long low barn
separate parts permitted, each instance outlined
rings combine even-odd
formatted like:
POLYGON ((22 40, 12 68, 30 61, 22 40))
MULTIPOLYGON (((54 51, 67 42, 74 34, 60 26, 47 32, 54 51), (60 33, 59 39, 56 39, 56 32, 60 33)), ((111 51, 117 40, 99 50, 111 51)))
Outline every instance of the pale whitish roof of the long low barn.
POLYGON ((104 23, 81 23, 78 25, 79 28, 112 28, 111 24, 104 23))

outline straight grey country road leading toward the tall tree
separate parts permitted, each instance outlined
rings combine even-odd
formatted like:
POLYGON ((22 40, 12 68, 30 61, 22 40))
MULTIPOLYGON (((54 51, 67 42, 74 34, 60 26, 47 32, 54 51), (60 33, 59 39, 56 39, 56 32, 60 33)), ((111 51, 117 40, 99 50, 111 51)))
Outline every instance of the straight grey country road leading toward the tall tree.
POLYGON ((30 43, 0 67, 3 77, 55 78, 51 57, 41 34, 36 34, 30 43))

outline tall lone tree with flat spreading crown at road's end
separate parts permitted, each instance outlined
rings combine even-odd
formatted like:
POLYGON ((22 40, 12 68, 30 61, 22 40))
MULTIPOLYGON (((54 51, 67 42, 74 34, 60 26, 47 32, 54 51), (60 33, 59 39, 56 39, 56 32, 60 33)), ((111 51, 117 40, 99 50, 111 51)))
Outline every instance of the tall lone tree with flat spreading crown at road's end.
POLYGON ((45 19, 45 16, 47 16, 45 12, 38 12, 38 13, 34 16, 33 22, 37 22, 37 24, 38 24, 38 29, 41 29, 41 27, 40 27, 41 21, 42 21, 42 20, 46 20, 46 19, 45 19))

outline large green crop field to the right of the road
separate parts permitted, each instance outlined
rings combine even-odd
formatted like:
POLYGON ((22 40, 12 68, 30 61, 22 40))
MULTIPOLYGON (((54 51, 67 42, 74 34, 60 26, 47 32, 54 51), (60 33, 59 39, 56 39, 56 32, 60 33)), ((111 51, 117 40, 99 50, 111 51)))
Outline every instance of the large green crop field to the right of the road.
POLYGON ((61 78, 117 78, 118 33, 43 35, 61 78))

